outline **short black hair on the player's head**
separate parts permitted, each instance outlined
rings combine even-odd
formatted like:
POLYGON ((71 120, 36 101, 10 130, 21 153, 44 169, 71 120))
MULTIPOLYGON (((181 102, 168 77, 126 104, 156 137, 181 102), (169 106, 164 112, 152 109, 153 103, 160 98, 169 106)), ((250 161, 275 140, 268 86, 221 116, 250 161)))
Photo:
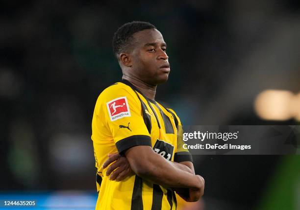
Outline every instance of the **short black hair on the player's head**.
POLYGON ((146 29, 156 29, 154 25, 148 22, 133 21, 125 23, 115 32, 113 37, 113 51, 118 59, 118 55, 130 46, 132 42, 132 35, 138 31, 146 29))

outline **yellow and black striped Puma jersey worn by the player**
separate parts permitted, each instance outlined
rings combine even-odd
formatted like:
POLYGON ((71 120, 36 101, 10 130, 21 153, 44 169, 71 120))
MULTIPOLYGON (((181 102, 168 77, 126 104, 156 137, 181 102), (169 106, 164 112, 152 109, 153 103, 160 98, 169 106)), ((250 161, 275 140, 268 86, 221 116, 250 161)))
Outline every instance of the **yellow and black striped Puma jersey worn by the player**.
POLYGON ((96 210, 175 210, 175 192, 137 175, 117 182, 105 176, 102 164, 108 153, 125 151, 137 145, 149 145, 169 161, 192 161, 182 147, 179 117, 150 100, 130 82, 106 88, 96 102, 92 120, 92 140, 97 167, 96 210))

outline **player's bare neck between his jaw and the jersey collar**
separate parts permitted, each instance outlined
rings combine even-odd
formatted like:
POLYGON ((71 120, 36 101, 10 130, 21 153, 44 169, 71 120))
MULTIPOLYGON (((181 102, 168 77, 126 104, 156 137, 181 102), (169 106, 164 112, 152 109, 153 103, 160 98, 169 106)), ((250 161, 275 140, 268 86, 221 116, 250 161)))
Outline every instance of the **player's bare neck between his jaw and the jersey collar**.
POLYGON ((142 92, 146 97, 150 98, 151 100, 154 100, 157 85, 153 86, 153 85, 150 85, 146 82, 143 82, 140 79, 133 78, 133 77, 130 77, 130 76, 127 76, 127 75, 123 75, 122 79, 125 79, 125 80, 129 81, 140 92, 142 92))

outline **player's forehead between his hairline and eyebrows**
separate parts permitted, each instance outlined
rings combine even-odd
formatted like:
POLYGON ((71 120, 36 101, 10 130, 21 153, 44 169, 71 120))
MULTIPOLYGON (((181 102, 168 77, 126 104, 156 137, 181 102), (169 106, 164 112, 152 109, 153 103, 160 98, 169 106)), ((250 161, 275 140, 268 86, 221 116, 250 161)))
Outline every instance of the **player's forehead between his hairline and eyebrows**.
POLYGON ((164 43, 162 34, 156 29, 146 29, 133 34, 133 38, 138 45, 144 46, 147 43, 164 43))

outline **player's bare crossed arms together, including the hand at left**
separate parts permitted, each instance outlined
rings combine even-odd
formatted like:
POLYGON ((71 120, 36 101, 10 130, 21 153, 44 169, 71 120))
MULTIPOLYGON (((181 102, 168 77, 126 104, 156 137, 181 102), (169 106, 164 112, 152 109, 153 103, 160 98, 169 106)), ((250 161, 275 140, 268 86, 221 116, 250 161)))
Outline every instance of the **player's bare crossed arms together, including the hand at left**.
POLYGON ((106 168, 110 163, 106 175, 111 180, 121 181, 135 173, 154 184, 174 188, 188 202, 199 200, 204 193, 204 179, 195 175, 193 163, 167 161, 150 146, 131 147, 125 157, 110 154, 102 167, 106 168))

